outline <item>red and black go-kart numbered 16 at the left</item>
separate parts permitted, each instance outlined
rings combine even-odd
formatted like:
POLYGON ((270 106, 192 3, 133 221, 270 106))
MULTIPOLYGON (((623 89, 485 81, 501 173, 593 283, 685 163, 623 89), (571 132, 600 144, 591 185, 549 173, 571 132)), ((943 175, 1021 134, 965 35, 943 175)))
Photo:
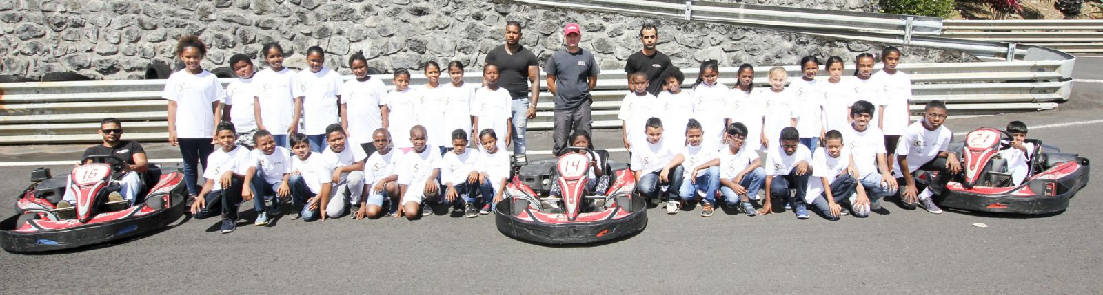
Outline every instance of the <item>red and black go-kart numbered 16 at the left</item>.
POLYGON ((97 244, 158 230, 184 214, 186 187, 183 174, 161 174, 150 165, 142 176, 147 189, 135 205, 110 201, 120 189, 114 182, 125 162, 111 155, 89 155, 71 174, 51 177, 50 170, 35 170, 32 184, 15 201, 15 216, 0 221, 0 247, 9 252, 44 252, 97 244), (73 183, 72 188, 66 182, 73 183), (65 189, 73 189, 76 205, 57 208, 65 189))

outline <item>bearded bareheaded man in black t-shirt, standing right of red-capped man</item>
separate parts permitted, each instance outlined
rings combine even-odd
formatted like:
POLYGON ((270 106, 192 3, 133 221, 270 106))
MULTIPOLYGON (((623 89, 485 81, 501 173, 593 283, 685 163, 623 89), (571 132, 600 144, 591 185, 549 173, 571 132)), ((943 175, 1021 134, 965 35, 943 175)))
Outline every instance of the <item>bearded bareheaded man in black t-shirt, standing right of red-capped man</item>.
MULTIPOLYGON (((632 76, 635 72, 647 74, 647 80, 651 81, 647 84, 647 92, 657 96, 663 91, 664 83, 660 79, 663 70, 671 66, 671 57, 655 50, 655 44, 658 43, 658 28, 655 28, 655 24, 644 23, 643 28, 640 28, 640 42, 643 43, 643 50, 628 57, 624 73, 627 76, 632 76)), ((629 78, 629 86, 631 85, 632 80, 629 78)))

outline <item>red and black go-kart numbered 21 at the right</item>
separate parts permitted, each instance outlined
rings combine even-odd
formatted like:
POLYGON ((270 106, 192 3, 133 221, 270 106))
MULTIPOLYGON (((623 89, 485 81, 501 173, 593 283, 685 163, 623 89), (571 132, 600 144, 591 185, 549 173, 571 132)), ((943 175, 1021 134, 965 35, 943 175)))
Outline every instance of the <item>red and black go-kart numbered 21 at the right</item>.
MULTIPOLYGON (((939 206, 1000 214, 1045 215, 1063 211, 1069 199, 1088 185, 1088 159, 1061 153, 1057 146, 1039 140, 1030 153, 1030 171, 1020 185, 1014 185, 1005 159, 997 156, 1010 149, 1007 131, 981 128, 965 135, 965 141, 951 145, 960 151, 962 174, 954 175, 945 187, 932 189, 939 206)), ((921 175, 927 183, 929 175, 921 175)))

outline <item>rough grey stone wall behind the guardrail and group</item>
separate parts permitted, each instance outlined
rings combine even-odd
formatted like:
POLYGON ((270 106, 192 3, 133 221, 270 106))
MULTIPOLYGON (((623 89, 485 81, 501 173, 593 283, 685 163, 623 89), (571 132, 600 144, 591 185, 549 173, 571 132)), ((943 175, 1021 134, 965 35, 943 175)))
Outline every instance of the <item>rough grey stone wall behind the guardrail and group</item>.
MULTIPOLYGON (((727 0, 866 10, 872 0, 727 0)), ((199 34, 210 47, 203 65, 225 67, 231 55, 256 58, 279 42, 285 65, 302 68, 312 45, 330 67, 349 74, 347 56, 363 51, 373 68, 418 68, 427 61, 482 61, 503 43, 506 21, 525 25, 523 43, 542 61, 560 48, 563 24, 582 25, 582 46, 603 69, 623 68, 640 50, 647 20, 615 13, 545 9, 506 0, 0 0, 0 74, 38 78, 77 72, 97 79, 141 78, 151 64, 176 64, 175 40, 199 34)), ((881 47, 736 25, 660 20, 660 51, 679 67, 716 58, 724 66, 794 64, 803 55, 839 55, 881 47)), ((974 61, 960 52, 903 47, 904 62, 974 61)), ((256 61, 256 59, 255 59, 256 61)), ((261 61, 256 61, 260 64, 261 61)), ((470 70, 470 69, 469 69, 470 70)))

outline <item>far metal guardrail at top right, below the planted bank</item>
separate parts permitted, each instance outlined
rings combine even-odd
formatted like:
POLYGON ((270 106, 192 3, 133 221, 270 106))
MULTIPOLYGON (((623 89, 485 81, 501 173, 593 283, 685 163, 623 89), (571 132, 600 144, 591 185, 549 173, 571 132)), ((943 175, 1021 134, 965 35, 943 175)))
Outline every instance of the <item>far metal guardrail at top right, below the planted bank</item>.
POLYGON ((942 35, 1029 43, 1070 53, 1103 53, 1103 20, 945 20, 942 35))

